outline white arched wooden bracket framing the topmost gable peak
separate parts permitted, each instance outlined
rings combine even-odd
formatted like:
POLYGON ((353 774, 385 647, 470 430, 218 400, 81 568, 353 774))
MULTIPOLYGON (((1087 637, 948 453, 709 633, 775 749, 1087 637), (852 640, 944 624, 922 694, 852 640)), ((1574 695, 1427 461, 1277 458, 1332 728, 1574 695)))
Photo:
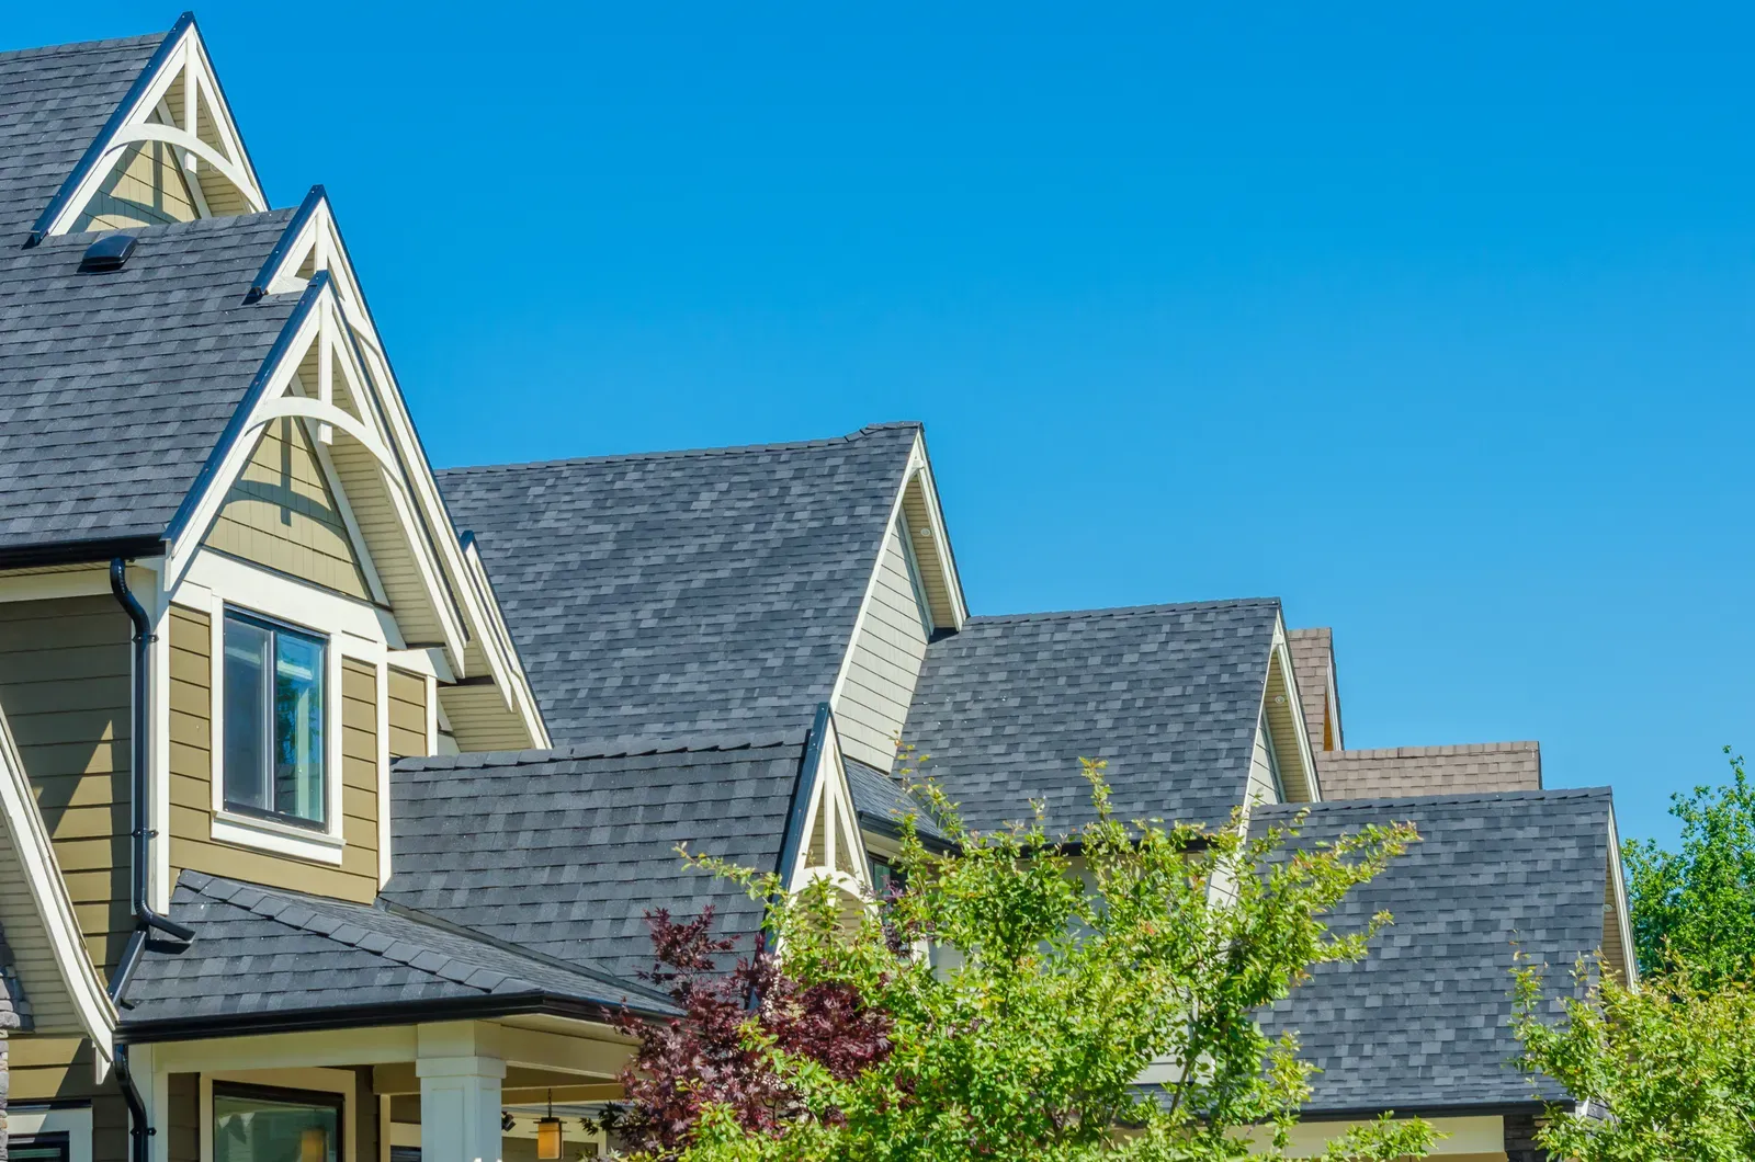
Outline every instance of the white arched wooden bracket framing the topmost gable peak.
POLYGON ((70 232, 116 160, 137 142, 172 147, 202 218, 269 209, 195 16, 184 12, 44 207, 26 246, 70 232))

